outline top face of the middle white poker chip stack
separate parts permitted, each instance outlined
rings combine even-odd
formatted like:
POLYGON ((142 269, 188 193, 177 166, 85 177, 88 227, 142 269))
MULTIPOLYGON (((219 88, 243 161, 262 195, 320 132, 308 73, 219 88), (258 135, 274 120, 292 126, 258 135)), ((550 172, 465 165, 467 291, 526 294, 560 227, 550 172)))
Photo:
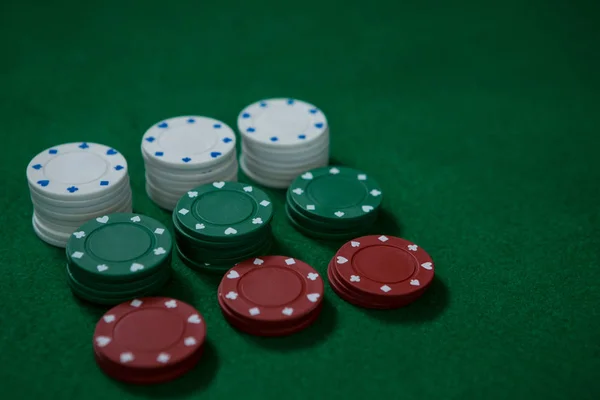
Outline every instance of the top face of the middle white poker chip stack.
POLYGON ((235 134, 227 124, 199 116, 161 121, 142 139, 142 151, 148 157, 181 168, 218 163, 234 150, 235 134))

